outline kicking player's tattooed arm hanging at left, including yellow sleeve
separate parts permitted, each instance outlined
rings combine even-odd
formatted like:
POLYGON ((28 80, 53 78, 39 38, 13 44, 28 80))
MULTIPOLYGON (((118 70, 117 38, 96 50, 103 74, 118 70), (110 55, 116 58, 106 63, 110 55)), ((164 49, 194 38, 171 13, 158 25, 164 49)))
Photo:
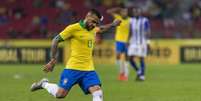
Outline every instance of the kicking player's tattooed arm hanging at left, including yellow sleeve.
POLYGON ((73 33, 73 27, 68 26, 66 27, 60 34, 55 36, 52 40, 51 44, 51 59, 50 61, 44 66, 43 71, 44 72, 52 72, 54 69, 54 65, 56 64, 56 58, 57 58, 57 50, 58 50, 58 45, 60 42, 63 42, 64 40, 68 39, 71 37, 73 33))

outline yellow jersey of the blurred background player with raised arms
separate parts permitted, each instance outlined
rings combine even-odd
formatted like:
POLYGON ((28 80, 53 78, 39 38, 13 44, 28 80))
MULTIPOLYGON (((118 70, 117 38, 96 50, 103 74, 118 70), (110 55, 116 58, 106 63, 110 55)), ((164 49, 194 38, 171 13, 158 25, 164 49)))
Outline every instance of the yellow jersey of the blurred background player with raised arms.
POLYGON ((121 20, 121 24, 116 27, 115 40, 120 42, 128 42, 130 17, 123 19, 120 15, 114 14, 115 19, 121 20))

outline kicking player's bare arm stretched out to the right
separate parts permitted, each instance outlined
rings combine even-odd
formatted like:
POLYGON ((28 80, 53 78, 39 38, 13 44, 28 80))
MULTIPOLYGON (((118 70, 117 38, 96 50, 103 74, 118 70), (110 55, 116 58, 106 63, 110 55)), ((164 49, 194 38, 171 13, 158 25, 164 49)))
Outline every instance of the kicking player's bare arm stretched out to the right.
POLYGON ((112 27, 116 27, 119 26, 121 23, 120 20, 114 20, 112 23, 110 24, 106 24, 106 25, 101 25, 99 27, 97 27, 96 33, 103 33, 105 31, 108 31, 110 28, 112 27))

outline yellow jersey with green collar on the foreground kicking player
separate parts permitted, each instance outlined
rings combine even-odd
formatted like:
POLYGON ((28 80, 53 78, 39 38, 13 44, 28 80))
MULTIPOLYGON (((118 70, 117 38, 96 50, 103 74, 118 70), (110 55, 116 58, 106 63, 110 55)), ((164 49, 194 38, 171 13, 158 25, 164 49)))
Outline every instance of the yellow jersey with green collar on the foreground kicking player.
POLYGON ((67 26, 60 36, 63 40, 70 40, 70 58, 66 63, 67 69, 92 71, 94 64, 92 59, 92 51, 95 42, 95 28, 88 31, 84 22, 67 26))

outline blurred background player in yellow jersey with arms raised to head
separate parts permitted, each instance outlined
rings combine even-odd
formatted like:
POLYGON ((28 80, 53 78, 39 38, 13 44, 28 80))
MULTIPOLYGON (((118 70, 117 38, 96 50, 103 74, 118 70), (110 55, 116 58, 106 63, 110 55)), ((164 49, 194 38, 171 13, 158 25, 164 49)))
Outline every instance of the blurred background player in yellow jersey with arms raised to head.
POLYGON ((116 63, 119 68, 118 79, 122 81, 128 80, 128 62, 127 62, 127 42, 129 36, 129 21, 127 8, 112 8, 107 10, 115 19, 121 20, 121 24, 117 26, 115 33, 116 41, 116 63))

